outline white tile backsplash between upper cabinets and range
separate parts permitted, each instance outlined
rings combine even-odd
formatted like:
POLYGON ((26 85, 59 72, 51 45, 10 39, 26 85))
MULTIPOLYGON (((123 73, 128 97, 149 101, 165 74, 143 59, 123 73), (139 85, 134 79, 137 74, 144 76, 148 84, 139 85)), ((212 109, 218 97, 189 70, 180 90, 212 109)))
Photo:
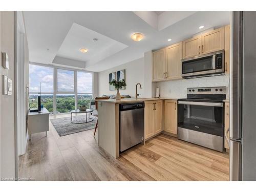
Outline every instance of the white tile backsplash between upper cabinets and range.
MULTIPOLYGON (((187 88, 228 87, 229 75, 202 77, 195 79, 180 79, 156 83, 160 89, 160 97, 186 98, 187 88)), ((227 98, 228 95, 227 95, 227 98)))

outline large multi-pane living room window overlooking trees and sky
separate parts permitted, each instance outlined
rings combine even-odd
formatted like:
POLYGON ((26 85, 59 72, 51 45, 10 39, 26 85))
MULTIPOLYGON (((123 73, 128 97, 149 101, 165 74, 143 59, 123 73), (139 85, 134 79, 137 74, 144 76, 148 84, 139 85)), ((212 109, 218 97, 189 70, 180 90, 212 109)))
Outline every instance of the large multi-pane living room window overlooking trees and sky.
POLYGON ((93 98, 92 73, 30 64, 29 102, 31 108, 37 108, 40 83, 41 104, 51 114, 68 113, 82 105, 90 107, 90 100, 93 98))

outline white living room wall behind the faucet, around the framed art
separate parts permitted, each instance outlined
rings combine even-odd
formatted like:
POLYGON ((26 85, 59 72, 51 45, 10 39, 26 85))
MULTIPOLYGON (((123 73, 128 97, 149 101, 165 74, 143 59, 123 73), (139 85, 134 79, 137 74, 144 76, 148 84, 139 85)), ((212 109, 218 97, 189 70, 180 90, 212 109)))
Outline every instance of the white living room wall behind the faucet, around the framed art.
POLYGON ((139 58, 131 62, 124 63, 123 65, 102 71, 98 73, 98 92, 99 96, 103 94, 106 95, 116 95, 116 91, 109 90, 109 73, 125 69, 125 80, 126 80, 126 89, 120 90, 121 95, 130 95, 135 97, 135 86, 136 83, 140 83, 142 89, 139 89, 138 94, 141 94, 139 97, 144 96, 144 58, 139 58))

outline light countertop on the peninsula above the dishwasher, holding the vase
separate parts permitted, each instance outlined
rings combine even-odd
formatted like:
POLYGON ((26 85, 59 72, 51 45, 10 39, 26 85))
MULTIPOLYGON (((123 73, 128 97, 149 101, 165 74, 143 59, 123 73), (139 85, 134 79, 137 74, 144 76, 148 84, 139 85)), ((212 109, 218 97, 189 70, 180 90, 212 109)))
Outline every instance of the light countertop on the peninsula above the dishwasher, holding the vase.
POLYGON ((167 97, 159 97, 159 98, 124 98, 124 99, 98 99, 100 102, 109 102, 109 103, 129 103, 129 102, 144 102, 144 101, 153 101, 153 100, 177 100, 179 98, 167 98, 167 97))

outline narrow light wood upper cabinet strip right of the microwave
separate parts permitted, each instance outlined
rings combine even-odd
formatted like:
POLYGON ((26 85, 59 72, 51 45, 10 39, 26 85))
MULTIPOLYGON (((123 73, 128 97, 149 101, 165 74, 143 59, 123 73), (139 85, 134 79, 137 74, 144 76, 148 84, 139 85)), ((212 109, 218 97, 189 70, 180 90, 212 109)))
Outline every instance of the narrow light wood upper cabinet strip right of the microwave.
POLYGON ((230 66, 230 25, 225 26, 225 73, 229 73, 230 66))

